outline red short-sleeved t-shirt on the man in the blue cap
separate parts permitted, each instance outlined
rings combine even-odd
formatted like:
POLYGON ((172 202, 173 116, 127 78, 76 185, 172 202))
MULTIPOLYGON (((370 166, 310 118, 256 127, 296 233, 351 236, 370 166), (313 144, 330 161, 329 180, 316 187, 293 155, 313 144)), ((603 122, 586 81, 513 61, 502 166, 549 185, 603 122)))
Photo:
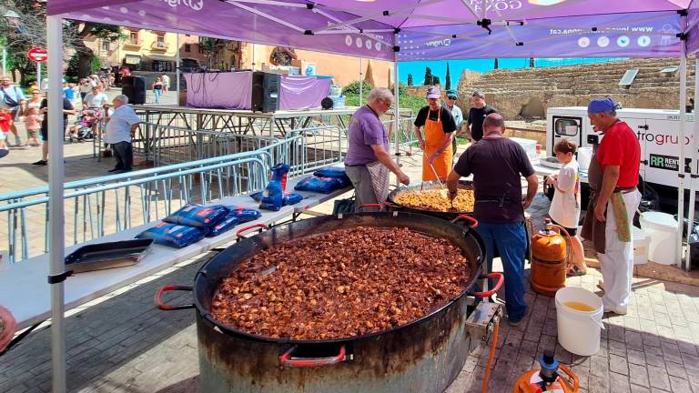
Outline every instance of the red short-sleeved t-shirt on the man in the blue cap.
POLYGON ((605 133, 597 149, 597 161, 602 170, 606 166, 619 166, 619 180, 616 186, 630 188, 638 185, 638 171, 641 166, 641 145, 631 127, 619 121, 605 133))

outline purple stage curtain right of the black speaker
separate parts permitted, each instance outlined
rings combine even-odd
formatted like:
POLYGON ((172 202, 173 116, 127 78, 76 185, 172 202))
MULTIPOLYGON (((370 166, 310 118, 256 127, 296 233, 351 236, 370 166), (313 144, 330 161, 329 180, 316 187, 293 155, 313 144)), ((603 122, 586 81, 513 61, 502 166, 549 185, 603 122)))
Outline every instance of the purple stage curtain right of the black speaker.
POLYGON ((332 79, 315 76, 282 76, 279 109, 295 110, 320 107, 329 96, 332 79))

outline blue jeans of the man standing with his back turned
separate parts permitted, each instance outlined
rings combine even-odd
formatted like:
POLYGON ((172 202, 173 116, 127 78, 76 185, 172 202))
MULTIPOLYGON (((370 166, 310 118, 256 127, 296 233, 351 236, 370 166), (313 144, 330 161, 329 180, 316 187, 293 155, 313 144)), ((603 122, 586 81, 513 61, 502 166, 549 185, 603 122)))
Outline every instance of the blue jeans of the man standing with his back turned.
POLYGON ((524 317, 524 253, 527 249, 527 231, 524 223, 489 224, 479 222, 476 228, 485 244, 488 271, 492 270, 492 256, 497 247, 505 275, 505 308, 507 317, 517 322, 524 317))

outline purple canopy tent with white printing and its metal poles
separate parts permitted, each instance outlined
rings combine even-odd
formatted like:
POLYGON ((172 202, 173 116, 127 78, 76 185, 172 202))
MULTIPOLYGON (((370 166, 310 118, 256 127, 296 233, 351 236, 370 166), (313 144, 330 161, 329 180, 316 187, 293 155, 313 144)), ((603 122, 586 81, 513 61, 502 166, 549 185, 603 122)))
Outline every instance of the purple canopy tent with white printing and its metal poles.
MULTIPOLYGON (((48 116, 52 127, 51 275, 60 275, 65 268, 62 132, 57 129, 61 124, 59 81, 64 18, 390 60, 394 62, 396 81, 399 62, 412 60, 679 56, 680 140, 684 140, 686 55, 699 51, 698 3, 699 0, 51 0, 47 17, 48 51, 52 54, 48 65, 48 116)), ((398 83, 394 85, 398 101, 398 83)), ((695 86, 699 86, 699 81, 695 86)), ((695 97, 699 98, 697 90, 695 97)), ((699 103, 699 99, 695 102, 699 103)), ((396 127, 398 120, 396 116, 396 127)), ((698 123, 694 123, 695 132, 699 132, 698 123)), ((683 148, 680 159, 684 159, 683 148)), ((684 213, 683 189, 684 175, 680 177, 680 214, 684 213)), ((682 235, 682 225, 678 231, 682 235)), ((678 247, 682 247, 681 242, 678 247)), ((58 282, 52 288, 55 392, 66 390, 63 311, 63 283, 58 282)))

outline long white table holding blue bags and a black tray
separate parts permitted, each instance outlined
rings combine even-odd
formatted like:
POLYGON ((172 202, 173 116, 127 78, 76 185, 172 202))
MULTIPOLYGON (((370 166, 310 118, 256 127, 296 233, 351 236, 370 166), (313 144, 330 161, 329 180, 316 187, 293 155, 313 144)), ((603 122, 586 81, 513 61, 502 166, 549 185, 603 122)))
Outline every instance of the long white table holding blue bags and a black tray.
MULTIPOLYGON (((305 176, 303 176, 305 177, 305 176)), ((300 177, 302 178, 302 177, 300 177)), ((300 180, 289 180, 287 188, 293 190, 294 185, 300 180)), ((254 224, 269 225, 294 213, 302 213, 307 208, 319 205, 329 199, 348 192, 351 187, 339 189, 330 194, 300 192, 304 199, 298 204, 282 207, 273 212, 260 210, 262 217, 246 224, 238 225, 224 232, 218 237, 205 237, 197 243, 183 248, 173 248, 154 244, 150 247, 143 259, 131 267, 117 267, 105 270, 79 273, 68 277, 65 281, 65 305, 66 310, 80 306, 90 300, 112 292, 119 287, 127 286, 137 280, 151 276, 160 270, 171 267, 179 262, 211 250, 212 248, 229 243, 236 239, 236 232, 241 227, 254 224)), ((211 205, 235 205, 238 207, 258 208, 258 203, 249 196, 234 196, 223 198, 211 205)), ((154 227, 157 222, 140 227, 132 227, 114 235, 91 240, 85 244, 66 247, 66 255, 75 251, 78 247, 91 243, 105 243, 132 239, 149 227, 154 227)), ((0 305, 7 307, 17 320, 18 328, 27 328, 38 322, 46 320, 51 315, 51 286, 48 285, 48 255, 33 257, 0 270, 0 305)), ((194 278, 194 277, 192 277, 194 278)))

